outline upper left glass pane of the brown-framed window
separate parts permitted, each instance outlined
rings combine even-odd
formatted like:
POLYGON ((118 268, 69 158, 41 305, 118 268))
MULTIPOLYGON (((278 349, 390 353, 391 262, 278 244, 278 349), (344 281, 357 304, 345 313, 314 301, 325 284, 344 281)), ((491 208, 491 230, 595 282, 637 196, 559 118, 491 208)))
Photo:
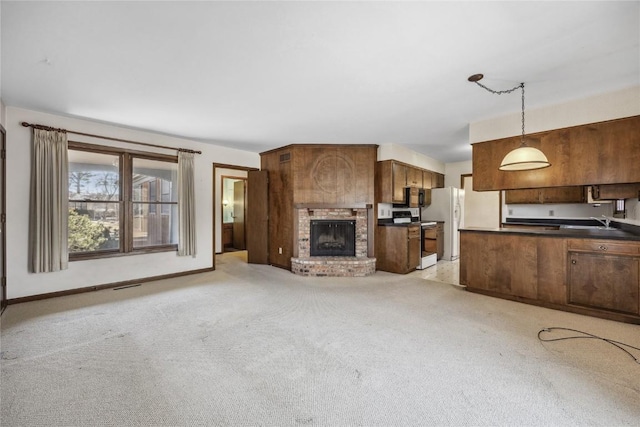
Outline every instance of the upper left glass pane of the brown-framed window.
POLYGON ((120 200, 120 157, 69 150, 70 200, 120 200))

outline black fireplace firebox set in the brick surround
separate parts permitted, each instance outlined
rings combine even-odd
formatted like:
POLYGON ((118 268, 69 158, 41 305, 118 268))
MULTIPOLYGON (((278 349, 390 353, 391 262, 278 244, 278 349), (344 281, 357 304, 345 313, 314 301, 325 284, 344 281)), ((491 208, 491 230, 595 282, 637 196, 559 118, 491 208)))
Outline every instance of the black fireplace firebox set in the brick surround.
POLYGON ((356 222, 353 220, 311 220, 311 256, 355 256, 356 222))

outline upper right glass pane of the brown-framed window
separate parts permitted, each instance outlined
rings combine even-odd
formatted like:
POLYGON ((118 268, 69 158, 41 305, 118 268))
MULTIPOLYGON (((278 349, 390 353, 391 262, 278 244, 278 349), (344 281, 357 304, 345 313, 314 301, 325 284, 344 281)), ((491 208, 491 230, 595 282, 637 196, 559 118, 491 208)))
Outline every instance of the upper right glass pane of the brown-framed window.
POLYGON ((178 164, 133 159, 134 202, 177 202, 178 164))

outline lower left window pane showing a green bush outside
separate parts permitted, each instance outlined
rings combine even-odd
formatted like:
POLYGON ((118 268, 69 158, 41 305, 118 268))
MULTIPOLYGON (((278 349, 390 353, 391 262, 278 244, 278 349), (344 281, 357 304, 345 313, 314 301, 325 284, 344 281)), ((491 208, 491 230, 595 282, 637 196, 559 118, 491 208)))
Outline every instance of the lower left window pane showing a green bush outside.
POLYGON ((120 248, 120 204, 70 202, 69 252, 120 248))

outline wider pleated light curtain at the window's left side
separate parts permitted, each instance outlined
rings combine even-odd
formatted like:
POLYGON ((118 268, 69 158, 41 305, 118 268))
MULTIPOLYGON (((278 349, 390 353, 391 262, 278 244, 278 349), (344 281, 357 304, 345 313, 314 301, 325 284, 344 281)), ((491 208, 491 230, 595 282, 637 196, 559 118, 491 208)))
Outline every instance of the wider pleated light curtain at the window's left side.
POLYGON ((29 212, 30 264, 33 273, 68 268, 68 170, 66 132, 34 129, 29 212))

